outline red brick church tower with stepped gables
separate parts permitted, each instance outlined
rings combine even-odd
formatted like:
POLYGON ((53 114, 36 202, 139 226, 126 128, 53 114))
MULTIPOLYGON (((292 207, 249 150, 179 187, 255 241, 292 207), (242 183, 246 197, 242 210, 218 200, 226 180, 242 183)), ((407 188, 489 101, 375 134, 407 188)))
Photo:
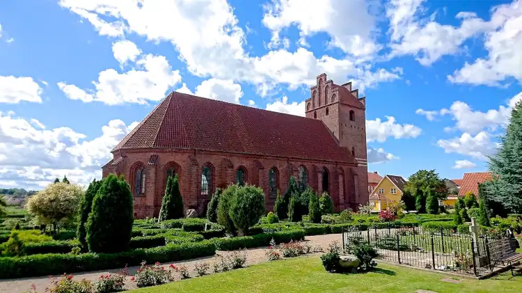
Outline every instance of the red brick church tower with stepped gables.
POLYGON ((366 166, 365 97, 358 97, 359 90, 352 90, 351 82, 338 86, 325 73, 317 76, 310 94, 305 101, 306 118, 322 120, 339 145, 349 149, 360 166, 366 166))

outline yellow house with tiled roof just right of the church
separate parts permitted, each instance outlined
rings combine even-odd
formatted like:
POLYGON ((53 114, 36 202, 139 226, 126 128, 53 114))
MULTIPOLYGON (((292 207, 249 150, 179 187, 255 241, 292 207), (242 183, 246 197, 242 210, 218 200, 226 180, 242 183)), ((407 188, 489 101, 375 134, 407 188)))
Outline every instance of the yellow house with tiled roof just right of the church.
POLYGON ((388 209, 388 203, 399 202, 404 192, 406 180, 401 176, 385 175, 372 194, 370 194, 370 205, 374 212, 388 209))

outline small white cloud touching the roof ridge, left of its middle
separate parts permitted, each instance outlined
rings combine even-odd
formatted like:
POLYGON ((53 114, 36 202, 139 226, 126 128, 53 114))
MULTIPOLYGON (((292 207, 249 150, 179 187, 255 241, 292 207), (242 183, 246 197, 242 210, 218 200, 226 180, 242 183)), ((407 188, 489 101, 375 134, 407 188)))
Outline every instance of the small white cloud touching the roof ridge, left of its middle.
POLYGON ((234 81, 223 79, 208 79, 196 87, 196 95, 213 100, 239 104, 243 91, 234 81))

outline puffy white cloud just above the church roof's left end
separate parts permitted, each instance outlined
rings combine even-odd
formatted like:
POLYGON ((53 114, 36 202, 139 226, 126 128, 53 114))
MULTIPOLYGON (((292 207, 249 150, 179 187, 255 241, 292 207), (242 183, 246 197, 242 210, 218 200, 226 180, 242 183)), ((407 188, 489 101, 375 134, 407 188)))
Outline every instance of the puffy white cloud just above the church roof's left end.
POLYGON ((159 101, 166 91, 181 81, 179 70, 172 70, 164 56, 148 54, 136 61, 136 68, 118 73, 107 69, 100 72, 97 81, 93 81, 95 90, 92 94, 77 86, 58 83, 65 95, 83 102, 98 101, 109 105, 159 101))

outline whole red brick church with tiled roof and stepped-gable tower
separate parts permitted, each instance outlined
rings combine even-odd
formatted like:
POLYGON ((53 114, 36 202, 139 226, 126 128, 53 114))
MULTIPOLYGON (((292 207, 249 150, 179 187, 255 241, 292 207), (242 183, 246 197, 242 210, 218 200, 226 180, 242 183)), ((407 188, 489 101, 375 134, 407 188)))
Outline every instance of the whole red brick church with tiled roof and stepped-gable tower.
POLYGON ((200 215, 232 182, 261 187, 272 210, 290 175, 301 190, 328 192, 336 210, 368 200, 365 97, 326 74, 310 88, 306 118, 173 92, 111 152, 103 177, 125 175, 136 218, 159 214, 173 174, 185 208, 200 215))

